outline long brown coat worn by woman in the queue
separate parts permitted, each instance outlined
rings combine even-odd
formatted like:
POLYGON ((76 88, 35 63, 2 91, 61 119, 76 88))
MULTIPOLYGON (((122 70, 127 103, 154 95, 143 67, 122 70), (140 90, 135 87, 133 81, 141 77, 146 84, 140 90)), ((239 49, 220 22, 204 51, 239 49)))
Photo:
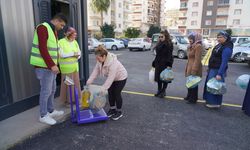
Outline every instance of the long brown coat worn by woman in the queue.
POLYGON ((186 66, 185 76, 196 75, 202 76, 202 64, 201 64, 201 56, 202 56, 202 45, 195 44, 191 48, 188 49, 188 62, 186 66))

